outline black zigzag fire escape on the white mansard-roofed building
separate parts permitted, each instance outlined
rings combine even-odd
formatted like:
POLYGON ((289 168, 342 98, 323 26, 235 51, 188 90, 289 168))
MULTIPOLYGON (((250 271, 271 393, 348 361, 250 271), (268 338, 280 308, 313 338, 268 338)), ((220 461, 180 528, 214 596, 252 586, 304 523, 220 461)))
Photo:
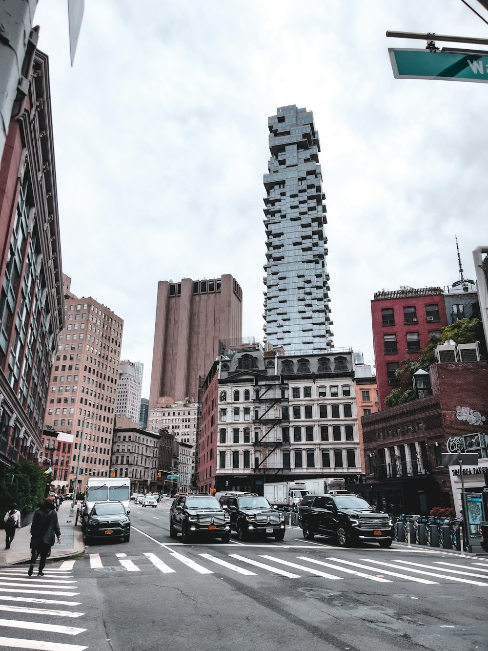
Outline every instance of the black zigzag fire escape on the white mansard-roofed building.
MULTIPOLYGON (((258 464, 254 464, 254 473, 262 473, 266 475, 267 471, 271 472, 272 477, 276 477, 282 473, 283 466, 269 466, 267 460, 283 445, 290 445, 290 441, 282 441, 282 432, 280 426, 283 422, 290 422, 287 413, 283 413, 282 406, 285 403, 286 410, 288 410, 288 398, 284 397, 284 390, 288 389, 288 385, 284 383, 270 382, 254 387, 254 406, 261 406, 264 412, 260 414, 259 418, 253 418, 254 426, 260 425, 263 436, 259 437, 258 432, 254 433, 252 445, 254 450, 261 452, 261 460, 258 464), (264 389, 263 393, 261 390, 264 389), (279 395, 275 394, 277 390, 279 395), (278 413, 278 415, 277 415, 278 413)), ((261 409, 260 409, 261 411, 261 409)), ((254 412, 255 415, 255 412, 254 412)))

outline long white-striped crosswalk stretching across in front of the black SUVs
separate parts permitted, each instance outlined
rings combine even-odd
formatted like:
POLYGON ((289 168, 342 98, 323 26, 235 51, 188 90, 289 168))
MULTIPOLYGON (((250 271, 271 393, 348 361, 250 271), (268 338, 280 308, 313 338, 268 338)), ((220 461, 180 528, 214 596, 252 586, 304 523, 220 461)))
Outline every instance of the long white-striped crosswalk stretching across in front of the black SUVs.
MULTIPOLYGON (((200 575, 213 575, 222 572, 234 572, 246 577, 275 574, 288 579, 301 579, 312 575, 327 581, 341 581, 356 577, 376 583, 392 583, 395 580, 409 581, 421 585, 439 585, 463 583, 481 588, 488 588, 488 562, 463 563, 451 561, 429 561, 425 563, 405 561, 403 559, 347 560, 334 556, 322 555, 270 555, 246 553, 198 553, 194 558, 174 549, 165 549, 158 554, 144 552, 141 556, 130 559, 125 553, 115 554, 118 567, 128 572, 150 572, 151 568, 163 574, 176 574, 191 570, 200 575), (163 556, 163 558, 161 558, 163 556), (262 572, 260 572, 262 570, 262 572)), ((115 559, 112 555, 102 558, 98 553, 89 555, 90 568, 103 570, 117 569, 109 565, 115 559)), ((77 562, 77 561, 76 561, 77 562)))

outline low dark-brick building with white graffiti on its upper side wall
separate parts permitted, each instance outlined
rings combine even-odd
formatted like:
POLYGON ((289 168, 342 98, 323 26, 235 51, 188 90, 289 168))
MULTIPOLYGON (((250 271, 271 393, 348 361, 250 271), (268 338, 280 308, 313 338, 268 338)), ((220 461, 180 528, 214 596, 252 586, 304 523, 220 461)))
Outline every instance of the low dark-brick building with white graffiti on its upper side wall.
POLYGON ((438 362, 429 377, 432 395, 362 417, 366 484, 359 489, 396 515, 454 506, 459 516, 459 469, 442 466, 441 454, 478 452, 478 469, 463 473, 466 490, 488 485, 488 365, 438 362))

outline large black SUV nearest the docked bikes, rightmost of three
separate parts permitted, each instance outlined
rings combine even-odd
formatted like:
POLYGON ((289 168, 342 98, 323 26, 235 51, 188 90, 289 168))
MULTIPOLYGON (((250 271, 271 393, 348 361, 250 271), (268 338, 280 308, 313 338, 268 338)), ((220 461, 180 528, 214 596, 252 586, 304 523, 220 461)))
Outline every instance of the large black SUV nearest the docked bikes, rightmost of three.
POLYGON ((334 536, 341 547, 358 542, 392 544, 392 521, 359 495, 306 495, 298 508, 303 537, 334 536))

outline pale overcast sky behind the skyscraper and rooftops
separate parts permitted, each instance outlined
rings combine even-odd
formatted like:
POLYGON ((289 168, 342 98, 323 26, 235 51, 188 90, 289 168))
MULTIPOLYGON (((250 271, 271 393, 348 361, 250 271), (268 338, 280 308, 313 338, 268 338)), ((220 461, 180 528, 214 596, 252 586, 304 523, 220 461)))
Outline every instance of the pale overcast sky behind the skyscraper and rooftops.
POLYGON ((312 109, 319 131, 335 346, 373 364, 374 292, 456 281, 455 235, 474 278, 488 86, 394 79, 387 48, 425 42, 385 36, 488 38, 461 0, 86 0, 74 68, 67 13, 66 0, 39 0, 35 15, 62 268, 77 296, 124 320, 143 396, 159 280, 232 273, 243 335, 262 340, 262 176, 279 106, 312 109))

